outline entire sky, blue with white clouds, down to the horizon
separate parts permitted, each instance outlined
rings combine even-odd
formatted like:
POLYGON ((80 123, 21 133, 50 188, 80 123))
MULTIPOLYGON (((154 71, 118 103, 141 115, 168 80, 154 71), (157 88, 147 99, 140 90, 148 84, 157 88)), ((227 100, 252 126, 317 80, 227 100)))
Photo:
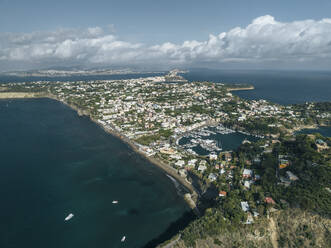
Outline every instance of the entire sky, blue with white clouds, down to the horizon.
POLYGON ((0 0, 0 71, 331 68, 330 0, 0 0))

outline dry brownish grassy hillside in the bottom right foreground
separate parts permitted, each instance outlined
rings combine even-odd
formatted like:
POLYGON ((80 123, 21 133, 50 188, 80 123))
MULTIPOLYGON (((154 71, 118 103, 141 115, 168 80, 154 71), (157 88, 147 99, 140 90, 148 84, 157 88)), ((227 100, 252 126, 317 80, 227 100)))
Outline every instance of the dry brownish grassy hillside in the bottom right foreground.
MULTIPOLYGON (((220 228, 220 234, 198 239, 195 247, 331 247, 330 230, 330 219, 300 209, 289 209, 272 213, 269 219, 264 218, 255 225, 220 228)), ((173 246, 167 246, 168 241, 159 247, 194 246, 185 238, 182 236, 173 246)))

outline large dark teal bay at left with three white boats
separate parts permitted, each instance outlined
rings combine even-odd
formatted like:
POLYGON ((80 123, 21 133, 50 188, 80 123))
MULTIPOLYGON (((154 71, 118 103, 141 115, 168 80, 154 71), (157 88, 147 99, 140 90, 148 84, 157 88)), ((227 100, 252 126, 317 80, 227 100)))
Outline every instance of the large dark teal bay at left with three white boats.
POLYGON ((187 211, 162 171, 59 102, 0 100, 0 132, 1 248, 142 247, 187 211))

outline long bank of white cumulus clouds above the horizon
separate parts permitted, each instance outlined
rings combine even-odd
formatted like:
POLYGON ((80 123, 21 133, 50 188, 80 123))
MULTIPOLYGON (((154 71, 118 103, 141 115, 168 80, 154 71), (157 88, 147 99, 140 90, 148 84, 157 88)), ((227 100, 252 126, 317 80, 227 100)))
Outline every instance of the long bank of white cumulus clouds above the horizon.
MULTIPOLYGON (((123 41, 111 25, 53 32, 0 34, 0 64, 84 64, 142 66, 238 66, 265 63, 308 67, 331 62, 331 19, 279 22, 270 15, 246 27, 211 34, 205 41, 148 46, 123 41)), ((0 68, 1 69, 1 68, 0 68)))

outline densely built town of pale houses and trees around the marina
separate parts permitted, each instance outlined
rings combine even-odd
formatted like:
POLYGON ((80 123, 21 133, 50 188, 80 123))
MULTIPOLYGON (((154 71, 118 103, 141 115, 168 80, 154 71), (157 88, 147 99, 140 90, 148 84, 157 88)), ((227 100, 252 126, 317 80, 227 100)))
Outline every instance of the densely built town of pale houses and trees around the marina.
MULTIPOLYGON (((157 76, 40 81, 8 83, 2 91, 51 97, 90 116, 106 131, 193 184, 199 198, 204 198, 207 191, 213 192, 206 202, 218 202, 229 221, 251 224, 260 215, 289 205, 292 195, 279 196, 281 189, 307 180, 303 167, 324 170, 323 164, 330 164, 330 139, 295 135, 304 127, 329 125, 330 105, 282 106, 265 100, 243 100, 231 93, 240 85, 179 80, 167 83, 165 76, 157 76), (237 132, 256 139, 244 140, 238 150, 223 150, 210 139, 212 134, 237 132), (182 138, 191 139, 180 144, 182 138), (300 153, 291 146, 294 143, 316 149, 307 148, 309 156, 298 159, 300 153), (196 146, 207 153, 193 151, 196 146), (225 200, 230 197, 232 200, 225 200)), ((323 187, 329 194, 327 184, 323 187)))

